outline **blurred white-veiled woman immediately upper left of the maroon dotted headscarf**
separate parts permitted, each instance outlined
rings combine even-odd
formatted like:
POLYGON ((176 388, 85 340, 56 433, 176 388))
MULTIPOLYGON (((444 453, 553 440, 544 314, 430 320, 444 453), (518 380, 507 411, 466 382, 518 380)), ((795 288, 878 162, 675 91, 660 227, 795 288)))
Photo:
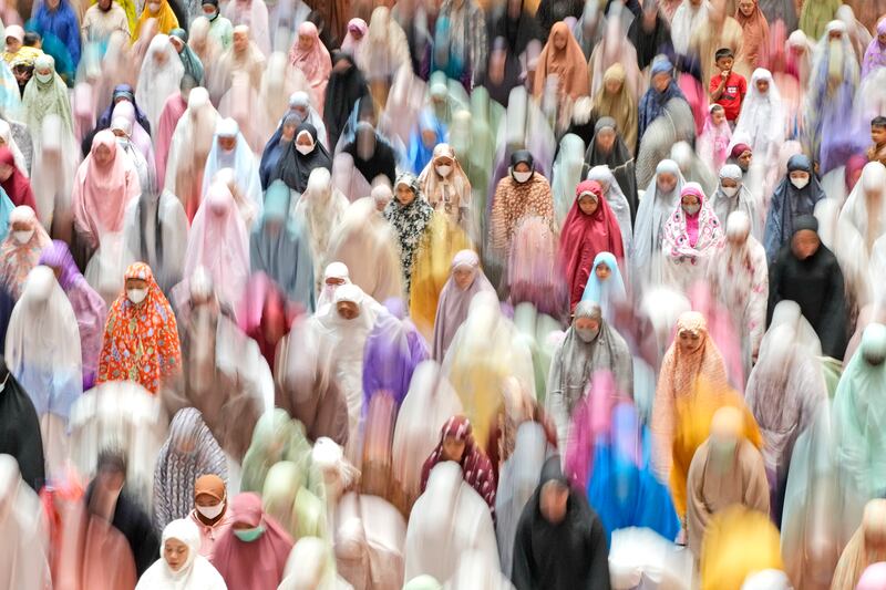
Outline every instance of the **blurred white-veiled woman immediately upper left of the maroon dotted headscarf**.
POLYGON ((462 401, 440 365, 424 361, 416 366, 396 415, 391 448, 391 476, 394 487, 403 494, 403 514, 410 513, 421 494, 422 466, 440 443, 440 426, 459 414, 462 401))

